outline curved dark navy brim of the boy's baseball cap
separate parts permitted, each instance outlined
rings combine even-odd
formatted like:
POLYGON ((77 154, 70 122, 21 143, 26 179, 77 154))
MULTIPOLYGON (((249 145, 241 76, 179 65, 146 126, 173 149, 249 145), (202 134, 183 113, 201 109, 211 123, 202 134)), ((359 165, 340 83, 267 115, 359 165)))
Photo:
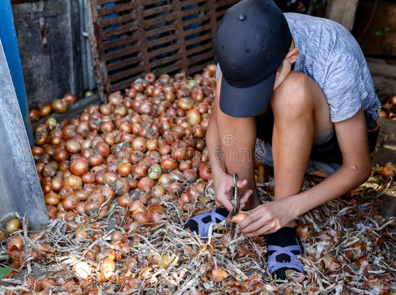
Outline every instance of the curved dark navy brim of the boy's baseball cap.
POLYGON ((220 109, 238 118, 259 115, 269 104, 274 90, 276 72, 264 81, 248 88, 237 88, 221 78, 220 109))

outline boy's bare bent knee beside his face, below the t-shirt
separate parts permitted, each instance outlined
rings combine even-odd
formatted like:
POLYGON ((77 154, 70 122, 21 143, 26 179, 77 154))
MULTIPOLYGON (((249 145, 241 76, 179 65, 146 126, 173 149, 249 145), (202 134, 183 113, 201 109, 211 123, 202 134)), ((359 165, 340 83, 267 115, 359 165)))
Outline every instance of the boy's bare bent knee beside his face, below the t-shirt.
POLYGON ((322 92, 309 76, 290 72, 272 95, 271 106, 274 114, 292 120, 313 116, 314 98, 319 91, 322 92))

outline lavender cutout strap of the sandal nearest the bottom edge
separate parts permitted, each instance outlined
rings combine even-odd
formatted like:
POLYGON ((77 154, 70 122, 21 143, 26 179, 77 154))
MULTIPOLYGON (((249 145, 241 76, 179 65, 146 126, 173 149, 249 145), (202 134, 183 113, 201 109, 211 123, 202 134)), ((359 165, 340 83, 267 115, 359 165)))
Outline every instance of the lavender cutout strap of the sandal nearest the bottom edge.
POLYGON ((268 268, 269 272, 272 274, 280 268, 295 268, 300 272, 304 273, 304 264, 298 259, 298 256, 301 256, 301 248, 299 245, 280 247, 274 245, 268 245, 268 251, 275 251, 271 255, 268 256, 268 268), (299 255, 297 256, 292 251, 299 251, 299 255), (280 254, 286 254, 290 257, 290 262, 278 262, 276 257, 280 254))

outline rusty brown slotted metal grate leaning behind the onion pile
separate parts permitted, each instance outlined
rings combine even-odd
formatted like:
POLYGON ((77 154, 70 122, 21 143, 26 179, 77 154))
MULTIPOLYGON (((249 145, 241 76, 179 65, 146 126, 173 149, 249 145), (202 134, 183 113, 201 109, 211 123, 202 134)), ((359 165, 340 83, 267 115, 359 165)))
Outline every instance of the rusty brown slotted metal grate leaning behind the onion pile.
POLYGON ((218 23, 238 0, 89 0, 102 99, 154 72, 194 74, 215 61, 218 23))

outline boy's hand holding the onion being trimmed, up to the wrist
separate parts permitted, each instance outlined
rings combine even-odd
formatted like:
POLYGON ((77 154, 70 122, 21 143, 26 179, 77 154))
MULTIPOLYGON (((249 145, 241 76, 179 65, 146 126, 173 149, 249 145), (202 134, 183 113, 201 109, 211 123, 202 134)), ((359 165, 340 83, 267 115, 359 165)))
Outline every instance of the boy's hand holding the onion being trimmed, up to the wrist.
POLYGON ((249 212, 250 214, 237 225, 245 237, 274 233, 295 219, 286 199, 261 204, 249 212))

